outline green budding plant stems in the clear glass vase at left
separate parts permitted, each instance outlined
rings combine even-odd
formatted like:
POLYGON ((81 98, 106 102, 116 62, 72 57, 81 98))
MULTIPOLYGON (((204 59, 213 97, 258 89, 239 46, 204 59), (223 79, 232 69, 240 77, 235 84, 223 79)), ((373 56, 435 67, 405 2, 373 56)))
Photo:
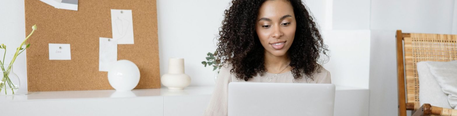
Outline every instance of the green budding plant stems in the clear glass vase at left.
POLYGON ((32 26, 32 32, 26 37, 26 39, 24 41, 22 41, 21 45, 19 45, 19 47, 16 48, 16 52, 13 55, 13 59, 11 59, 10 64, 6 68, 5 68, 5 55, 6 55, 6 50, 7 50, 6 45, 4 45, 4 44, 0 45, 0 49, 5 50, 5 52, 3 53, 3 60, 0 61, 0 68, 3 71, 3 78, 0 81, 0 92, 3 90, 2 88, 5 88, 5 94, 7 95, 6 86, 9 86, 11 88, 11 91, 13 92, 13 94, 14 94, 13 89, 17 89, 17 87, 11 82, 11 80, 9 78, 9 75, 11 72, 11 66, 13 65, 14 61, 16 61, 17 56, 20 55, 24 50, 26 50, 27 48, 30 47, 30 44, 26 45, 26 41, 33 34, 33 32, 35 32, 35 30, 37 30, 37 25, 32 26))

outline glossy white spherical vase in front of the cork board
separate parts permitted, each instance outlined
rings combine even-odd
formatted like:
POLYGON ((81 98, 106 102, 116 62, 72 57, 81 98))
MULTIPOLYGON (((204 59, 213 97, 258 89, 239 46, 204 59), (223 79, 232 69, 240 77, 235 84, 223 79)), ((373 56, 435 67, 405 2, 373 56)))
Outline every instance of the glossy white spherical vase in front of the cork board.
POLYGON ((140 81, 140 70, 132 61, 116 61, 108 70, 108 81, 116 91, 131 91, 140 81))

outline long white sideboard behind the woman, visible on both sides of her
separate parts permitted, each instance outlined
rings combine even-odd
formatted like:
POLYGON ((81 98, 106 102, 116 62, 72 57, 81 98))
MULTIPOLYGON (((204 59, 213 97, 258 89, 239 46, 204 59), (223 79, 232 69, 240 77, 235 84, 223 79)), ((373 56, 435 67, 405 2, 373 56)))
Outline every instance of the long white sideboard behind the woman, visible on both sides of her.
MULTIPOLYGON (((46 91, 0 96, 1 116, 202 116, 213 86, 128 92, 46 91)), ((335 116, 368 116, 367 89, 336 86, 335 116)))

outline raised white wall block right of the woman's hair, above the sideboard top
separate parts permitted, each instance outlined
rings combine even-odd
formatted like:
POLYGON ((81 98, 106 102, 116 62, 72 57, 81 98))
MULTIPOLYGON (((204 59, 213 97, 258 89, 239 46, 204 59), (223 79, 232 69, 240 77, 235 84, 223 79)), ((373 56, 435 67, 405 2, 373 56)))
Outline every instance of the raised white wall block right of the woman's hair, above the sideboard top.
POLYGON ((332 83, 368 89, 370 69, 370 30, 325 30, 324 41, 329 46, 332 83))

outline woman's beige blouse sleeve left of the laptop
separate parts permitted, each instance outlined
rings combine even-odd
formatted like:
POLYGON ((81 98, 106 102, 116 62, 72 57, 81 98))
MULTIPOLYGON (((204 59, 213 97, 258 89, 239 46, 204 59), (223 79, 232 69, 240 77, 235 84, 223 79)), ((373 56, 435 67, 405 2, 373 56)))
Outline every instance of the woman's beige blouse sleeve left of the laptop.
POLYGON ((219 71, 213 96, 203 116, 228 115, 228 83, 232 81, 230 70, 229 65, 224 65, 219 71))

